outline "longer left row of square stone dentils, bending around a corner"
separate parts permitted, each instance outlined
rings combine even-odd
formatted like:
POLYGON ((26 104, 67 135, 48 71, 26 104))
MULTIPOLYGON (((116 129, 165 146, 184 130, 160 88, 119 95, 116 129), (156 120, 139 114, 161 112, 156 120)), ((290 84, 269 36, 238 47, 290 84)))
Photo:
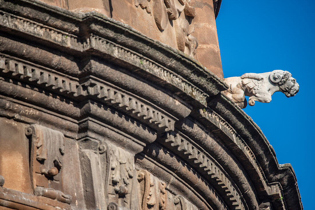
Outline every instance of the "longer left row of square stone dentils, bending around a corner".
POLYGON ((74 99, 93 98, 128 113, 157 131, 174 130, 175 119, 143 101, 95 79, 78 81, 16 60, 0 57, 0 72, 74 99))

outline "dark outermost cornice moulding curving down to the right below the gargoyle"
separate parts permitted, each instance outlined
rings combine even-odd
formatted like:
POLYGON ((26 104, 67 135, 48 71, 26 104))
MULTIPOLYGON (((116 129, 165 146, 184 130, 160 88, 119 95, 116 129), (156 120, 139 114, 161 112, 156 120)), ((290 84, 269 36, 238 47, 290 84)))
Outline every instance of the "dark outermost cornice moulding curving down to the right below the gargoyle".
MULTIPOLYGON (((256 123, 224 94, 212 98, 208 104, 248 144, 268 182, 281 184, 284 199, 280 198, 276 201, 285 203, 284 205, 288 209, 303 209, 300 192, 297 188, 297 179, 292 166, 290 164, 278 164, 272 146, 256 123)), ((279 204, 279 206, 282 205, 279 204)))

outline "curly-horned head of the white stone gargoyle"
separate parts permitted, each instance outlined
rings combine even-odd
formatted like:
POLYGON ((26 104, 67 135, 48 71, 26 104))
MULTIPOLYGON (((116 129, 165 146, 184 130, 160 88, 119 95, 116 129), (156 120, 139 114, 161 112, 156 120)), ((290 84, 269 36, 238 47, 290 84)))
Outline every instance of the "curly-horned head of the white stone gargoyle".
POLYGON ((281 92, 288 98, 295 96, 299 92, 300 86, 289 71, 274 70, 271 72, 269 78, 271 82, 279 86, 281 92))

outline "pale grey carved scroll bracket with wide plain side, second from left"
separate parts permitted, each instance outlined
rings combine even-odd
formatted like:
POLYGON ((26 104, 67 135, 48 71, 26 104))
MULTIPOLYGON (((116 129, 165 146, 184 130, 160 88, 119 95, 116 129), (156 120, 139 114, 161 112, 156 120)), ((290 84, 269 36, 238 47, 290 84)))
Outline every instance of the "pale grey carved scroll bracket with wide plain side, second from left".
POLYGON ((82 177, 89 179, 83 186, 87 208, 138 209, 134 156, 89 138, 81 140, 80 148, 82 177))

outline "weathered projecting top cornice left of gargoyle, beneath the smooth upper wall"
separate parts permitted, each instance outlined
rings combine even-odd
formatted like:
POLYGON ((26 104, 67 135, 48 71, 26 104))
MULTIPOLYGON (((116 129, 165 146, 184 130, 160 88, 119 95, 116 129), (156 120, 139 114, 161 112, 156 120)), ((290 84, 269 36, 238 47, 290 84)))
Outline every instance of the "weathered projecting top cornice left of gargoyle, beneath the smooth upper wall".
MULTIPOLYGON (((41 4, 43 3, 34 1, 29 6, 34 7, 36 5, 37 7, 41 4)), ((23 12, 23 9, 16 4, 5 0, 2 1, 1 5, 0 9, 13 9, 14 14, 23 12)), ((44 8, 41 7, 41 10, 44 11, 50 8, 46 5, 44 8)), ((64 11, 60 8, 54 9, 59 10, 59 12, 64 11)), ((32 12, 36 13, 35 11, 29 11, 29 18, 38 19, 38 16, 35 18, 32 12)), ((62 48, 74 55, 86 51, 91 55, 96 53, 97 56, 103 55, 107 58, 109 56, 114 63, 117 61, 127 62, 129 66, 132 65, 131 70, 151 73, 157 79, 163 80, 175 89, 186 93, 187 99, 193 98, 204 106, 207 96, 218 94, 220 90, 226 88, 226 85, 218 77, 184 53, 154 41, 125 24, 97 13, 70 14, 68 13, 65 17, 66 23, 64 26, 66 27, 60 28, 63 25, 58 24, 57 29, 43 25, 41 23, 43 20, 35 22, 7 12, 1 12, 0 20, 2 24, 0 26, 5 30, 9 30, 10 33, 16 31, 16 35, 18 35, 18 31, 22 31, 25 33, 25 37, 37 38, 44 44, 55 45, 56 48, 62 48), (16 22, 19 22, 19 24, 15 24, 16 22), (69 26, 69 24, 72 24, 72 26, 69 26), (77 28, 77 25, 80 27, 77 28), (69 27, 75 31, 69 30, 69 27), (92 35, 86 37, 88 31, 92 35), (82 35, 77 36, 72 34, 73 32, 82 35)), ((60 22, 62 20, 56 21, 60 22)), ((80 72, 75 72, 73 69, 69 70, 68 73, 70 74, 80 74, 80 72)))

